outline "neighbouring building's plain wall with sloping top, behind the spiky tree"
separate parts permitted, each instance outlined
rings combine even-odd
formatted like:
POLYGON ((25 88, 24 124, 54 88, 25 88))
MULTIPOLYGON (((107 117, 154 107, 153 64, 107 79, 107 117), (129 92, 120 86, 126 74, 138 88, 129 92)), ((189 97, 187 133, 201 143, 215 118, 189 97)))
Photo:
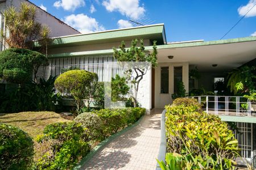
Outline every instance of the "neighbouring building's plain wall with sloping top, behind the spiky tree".
MULTIPOLYGON (((17 9, 20 6, 20 3, 27 2, 30 5, 34 5, 34 3, 31 3, 27 0, 1 0, 0 1, 0 30, 5 29, 5 19, 3 16, 3 11, 6 10, 9 6, 14 6, 17 9)), ((34 5, 36 6, 36 5, 34 5)), ((60 19, 57 19, 55 16, 49 14, 48 12, 42 10, 42 8, 36 6, 38 8, 37 13, 37 20, 39 23, 43 25, 48 25, 48 27, 51 29, 51 35, 50 37, 59 37, 59 36, 67 36, 67 35, 75 35, 79 34, 80 32, 77 31, 75 28, 70 27, 69 25, 62 22, 60 19)), ((3 43, 3 40, 1 39, 1 44, 3 43)), ((3 46, 1 45, 0 51, 3 49, 3 46)))

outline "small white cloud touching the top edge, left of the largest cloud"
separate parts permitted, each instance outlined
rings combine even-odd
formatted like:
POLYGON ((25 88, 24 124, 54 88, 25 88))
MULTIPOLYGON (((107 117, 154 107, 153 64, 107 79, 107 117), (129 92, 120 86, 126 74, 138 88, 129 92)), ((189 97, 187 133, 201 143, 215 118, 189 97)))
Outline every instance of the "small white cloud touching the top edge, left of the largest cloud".
POLYGON ((62 7, 66 11, 75 11, 76 8, 85 6, 84 0, 61 0, 56 1, 53 6, 56 8, 62 7))

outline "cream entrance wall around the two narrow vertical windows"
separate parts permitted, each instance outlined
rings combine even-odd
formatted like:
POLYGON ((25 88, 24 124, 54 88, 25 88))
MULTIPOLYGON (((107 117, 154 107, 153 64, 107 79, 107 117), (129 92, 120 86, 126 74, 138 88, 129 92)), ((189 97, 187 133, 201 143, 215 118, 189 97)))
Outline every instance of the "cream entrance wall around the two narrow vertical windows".
POLYGON ((171 94, 174 93, 174 67, 182 66, 182 81, 185 86, 186 92, 188 92, 188 78, 189 78, 189 64, 188 62, 166 62, 158 63, 158 67, 155 68, 155 108, 164 108, 165 105, 171 104, 171 94), (161 67, 169 67, 169 93, 161 94, 161 67))

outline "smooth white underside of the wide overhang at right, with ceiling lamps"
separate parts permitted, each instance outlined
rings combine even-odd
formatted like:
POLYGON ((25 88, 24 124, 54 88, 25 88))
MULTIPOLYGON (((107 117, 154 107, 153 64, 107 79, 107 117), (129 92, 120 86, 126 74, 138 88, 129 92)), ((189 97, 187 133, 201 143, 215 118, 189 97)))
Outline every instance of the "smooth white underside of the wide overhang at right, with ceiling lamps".
POLYGON ((256 58, 256 41, 158 50, 158 62, 189 62, 200 71, 222 72, 256 58), (167 56, 174 56, 169 59, 167 56), (217 67, 212 67, 217 64, 217 67))

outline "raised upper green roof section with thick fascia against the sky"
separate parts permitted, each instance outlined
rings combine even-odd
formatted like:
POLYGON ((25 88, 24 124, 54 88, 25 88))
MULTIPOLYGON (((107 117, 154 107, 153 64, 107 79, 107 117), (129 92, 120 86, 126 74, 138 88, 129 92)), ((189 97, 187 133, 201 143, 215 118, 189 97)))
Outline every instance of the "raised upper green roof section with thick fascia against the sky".
MULTIPOLYGON (((158 44, 166 44, 164 24, 113 29, 109 31, 56 37, 52 38, 53 43, 50 46, 54 48, 55 46, 75 46, 85 44, 126 41, 132 39, 149 39, 152 41, 156 40, 158 41, 158 44)), ((35 46, 39 46, 37 41, 35 41, 35 46)))

